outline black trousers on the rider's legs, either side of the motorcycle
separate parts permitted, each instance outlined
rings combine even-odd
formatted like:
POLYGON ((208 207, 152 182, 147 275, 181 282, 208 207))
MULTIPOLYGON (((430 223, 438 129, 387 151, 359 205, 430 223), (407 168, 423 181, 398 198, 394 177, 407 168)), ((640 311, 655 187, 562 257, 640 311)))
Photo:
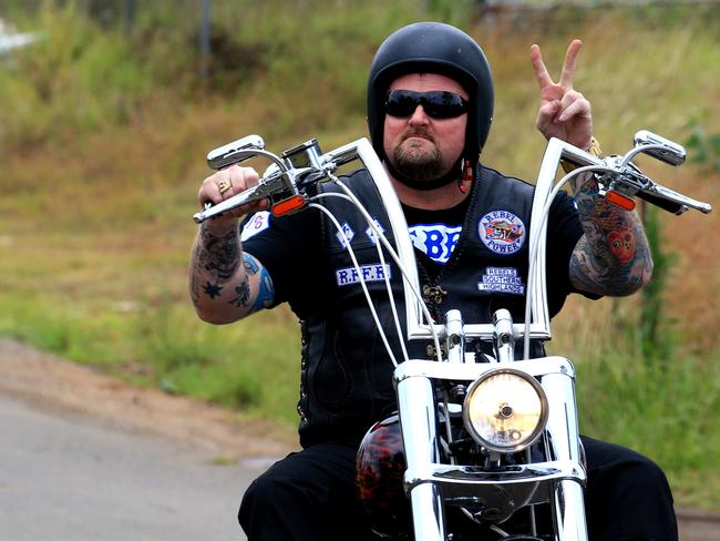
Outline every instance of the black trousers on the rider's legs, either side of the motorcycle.
MULTIPOLYGON (((592 541, 677 541, 660 468, 620 446, 583 437, 592 541)), ((248 488, 238 514, 249 541, 367 541, 356 500, 356 449, 320 443, 276 462, 248 488)))

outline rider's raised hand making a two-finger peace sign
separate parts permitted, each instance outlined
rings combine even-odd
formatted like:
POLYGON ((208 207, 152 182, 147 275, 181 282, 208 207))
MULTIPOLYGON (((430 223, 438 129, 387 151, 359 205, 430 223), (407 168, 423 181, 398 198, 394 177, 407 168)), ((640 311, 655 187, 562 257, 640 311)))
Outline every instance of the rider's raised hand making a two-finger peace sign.
POLYGON ((573 89, 573 79, 577 69, 577 54, 583 42, 573 40, 565 53, 559 82, 551 79, 543 63, 539 47, 531 47, 529 54, 535 78, 541 89, 541 106, 535 125, 545 139, 557 137, 587 150, 593 136, 593 114, 590 102, 573 89))

